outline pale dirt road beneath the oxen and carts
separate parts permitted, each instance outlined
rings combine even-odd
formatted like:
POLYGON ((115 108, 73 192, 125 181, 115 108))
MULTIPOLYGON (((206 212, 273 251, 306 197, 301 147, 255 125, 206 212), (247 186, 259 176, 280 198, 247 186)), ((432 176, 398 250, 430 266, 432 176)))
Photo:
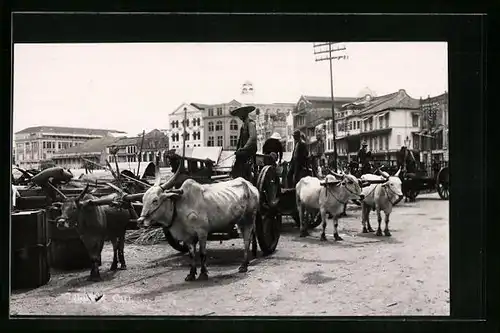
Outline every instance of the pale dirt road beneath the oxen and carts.
MULTIPOLYGON (((128 270, 114 274, 111 246, 103 252, 105 281, 88 271, 54 272, 38 289, 14 292, 11 314, 31 315, 449 315, 448 201, 423 194, 391 215, 392 237, 362 234, 360 209, 339 224, 299 238, 283 223, 276 253, 260 252, 238 273, 243 241, 208 244, 209 280, 184 282, 187 255, 167 243, 125 247, 128 270), (99 296, 102 297, 99 299, 99 296), (96 299, 98 299, 96 301, 96 299)), ((372 212, 372 226, 376 216, 372 212)))

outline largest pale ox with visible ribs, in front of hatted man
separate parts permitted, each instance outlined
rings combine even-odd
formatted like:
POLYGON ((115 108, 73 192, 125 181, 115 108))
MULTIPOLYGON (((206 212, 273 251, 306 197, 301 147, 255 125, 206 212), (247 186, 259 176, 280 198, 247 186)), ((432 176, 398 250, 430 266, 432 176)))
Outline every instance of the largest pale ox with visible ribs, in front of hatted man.
POLYGON ((259 210, 259 192, 249 181, 239 177, 215 184, 199 184, 192 179, 184 181, 179 189, 169 189, 178 172, 165 184, 156 183, 143 197, 138 225, 148 227, 158 222, 170 230, 172 236, 189 248, 191 269, 186 281, 196 279, 196 244, 200 245, 201 270, 199 280, 208 279, 206 267, 207 237, 211 232, 227 230, 235 224, 244 242, 243 263, 239 272, 248 270, 248 251, 259 210))

